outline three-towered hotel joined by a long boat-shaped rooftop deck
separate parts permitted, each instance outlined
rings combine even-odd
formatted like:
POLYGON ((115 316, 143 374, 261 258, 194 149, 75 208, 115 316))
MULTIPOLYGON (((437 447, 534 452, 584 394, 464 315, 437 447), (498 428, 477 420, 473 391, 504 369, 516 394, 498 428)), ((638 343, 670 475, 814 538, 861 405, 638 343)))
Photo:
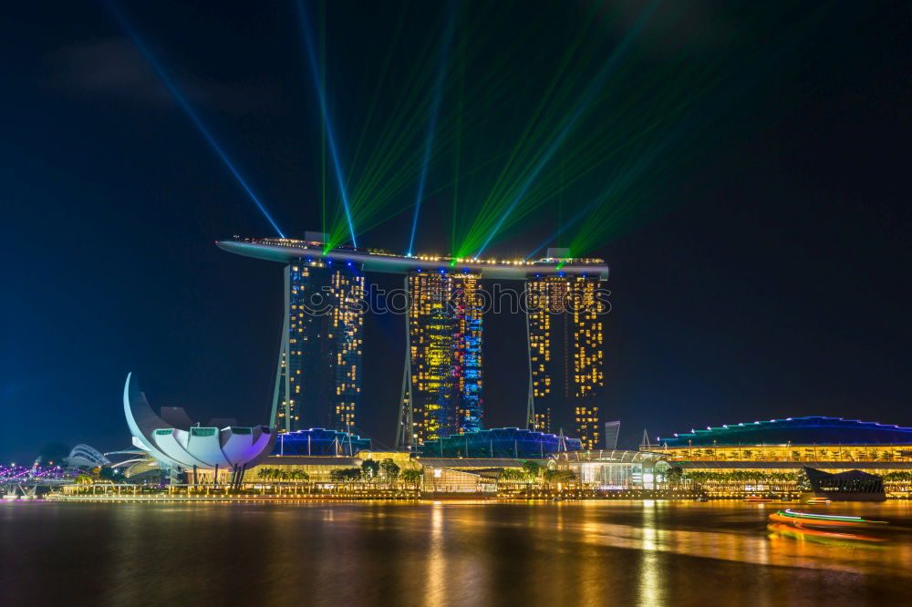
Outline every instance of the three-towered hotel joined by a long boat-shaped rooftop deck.
MULTIPOLYGON (((426 438, 474 432, 483 427, 482 297, 475 296, 479 293, 482 276, 516 281, 530 280, 534 276, 535 279, 530 280, 531 288, 558 292, 554 301, 561 302, 563 308, 567 296, 584 303, 597 300, 596 285, 606 281, 609 273, 604 260, 572 258, 565 249, 549 249, 542 259, 505 261, 399 255, 345 244, 330 246, 326 240, 325 234, 306 232, 304 240, 235 236, 233 240, 219 241, 216 245, 223 251, 282 263, 288 268, 306 265, 315 268, 315 274, 317 268, 323 271, 335 264, 336 268, 354 265, 358 273, 405 275, 412 301, 406 323, 407 347, 397 418, 397 448, 410 448, 420 445, 426 438), (543 276, 545 279, 540 280, 543 276)), ((303 341, 291 341, 298 339, 295 334, 302 334, 301 339, 306 334, 307 341, 311 342, 316 341, 312 335, 328 335, 329 332, 323 331, 316 321, 302 318, 299 309, 292 307, 299 304, 293 304, 291 299, 295 294, 313 293, 314 285, 320 281, 315 276, 298 276, 297 271, 287 270, 286 274, 285 328, 274 395, 276 426, 286 431, 311 426, 337 429, 350 426, 355 420, 360 391, 361 321, 358 320, 357 326, 347 318, 339 321, 348 327, 346 344, 352 346, 346 350, 347 355, 326 359, 319 358, 322 354, 307 355, 309 350, 303 341), (292 293, 295 281, 299 288, 292 293), (349 357, 354 362, 347 363, 349 357), (307 367, 306 360, 310 358, 325 360, 326 365, 328 361, 336 360, 337 367, 333 367, 330 374, 336 376, 333 380, 336 384, 329 391, 332 393, 338 386, 337 402, 330 407, 335 417, 318 415, 307 417, 305 421, 305 416, 315 409, 305 402, 311 398, 303 383, 308 381, 306 369, 320 368, 317 363, 307 367)), ((339 284, 336 288, 337 293, 354 293, 357 289, 363 291, 364 283, 358 279, 358 283, 339 284)), ((330 289, 329 296, 333 293, 330 289)), ((344 294, 339 298, 348 299, 344 294)), ((600 312, 592 313, 583 308, 556 315, 530 314, 526 423, 531 429, 564 433, 566 428, 580 434, 580 428, 573 424, 575 407, 598 406, 596 399, 604 384, 602 321, 598 314, 600 312), (534 386, 537 387, 535 391, 534 386), (536 416, 536 410, 544 416, 536 416)), ((332 348, 336 348, 334 352, 345 350, 339 345, 331 345, 330 350, 332 348)), ((319 352, 323 353, 323 350, 319 352)), ((581 428, 586 433, 586 448, 596 448, 602 434, 597 428, 597 424, 590 428, 588 422, 581 428)))

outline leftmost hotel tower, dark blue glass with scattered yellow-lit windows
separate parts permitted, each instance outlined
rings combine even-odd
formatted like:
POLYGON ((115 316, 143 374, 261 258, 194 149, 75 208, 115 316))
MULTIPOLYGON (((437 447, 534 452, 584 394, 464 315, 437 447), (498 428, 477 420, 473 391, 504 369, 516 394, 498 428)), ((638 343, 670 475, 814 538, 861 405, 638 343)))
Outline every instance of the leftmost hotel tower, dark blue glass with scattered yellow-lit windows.
POLYGON ((364 276, 351 263, 302 258, 285 266, 285 324, 276 369, 275 427, 347 430, 361 395, 364 276))

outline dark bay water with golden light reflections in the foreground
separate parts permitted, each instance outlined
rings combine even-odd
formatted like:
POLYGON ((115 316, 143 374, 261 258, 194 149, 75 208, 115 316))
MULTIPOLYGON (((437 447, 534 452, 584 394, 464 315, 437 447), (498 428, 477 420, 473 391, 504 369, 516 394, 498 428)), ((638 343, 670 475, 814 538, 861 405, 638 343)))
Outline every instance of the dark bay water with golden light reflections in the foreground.
POLYGON ((906 602, 909 503, 814 508, 890 520, 882 543, 771 532, 766 519, 775 509, 667 501, 2 504, 0 603, 906 602))

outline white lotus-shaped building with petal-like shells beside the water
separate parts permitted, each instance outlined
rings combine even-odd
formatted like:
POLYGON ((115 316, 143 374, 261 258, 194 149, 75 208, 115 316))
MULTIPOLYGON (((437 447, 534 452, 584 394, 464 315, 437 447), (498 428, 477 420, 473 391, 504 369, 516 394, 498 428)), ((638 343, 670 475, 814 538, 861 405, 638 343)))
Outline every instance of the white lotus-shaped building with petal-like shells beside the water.
POLYGON ((268 456, 275 444, 276 434, 267 426, 239 427, 233 420, 215 419, 200 426, 176 406, 162 407, 157 416, 132 374, 123 386, 123 411, 133 444, 162 468, 232 469, 240 482, 244 470, 268 456))

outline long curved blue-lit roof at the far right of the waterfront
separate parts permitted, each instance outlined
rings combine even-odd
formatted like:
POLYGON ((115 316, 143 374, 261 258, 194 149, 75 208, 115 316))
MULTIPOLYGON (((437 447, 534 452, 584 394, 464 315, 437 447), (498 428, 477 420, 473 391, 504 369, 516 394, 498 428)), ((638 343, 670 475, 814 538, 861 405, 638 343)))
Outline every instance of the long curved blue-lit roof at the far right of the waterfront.
POLYGON ((668 447, 688 445, 759 445, 912 443, 912 427, 865 422, 843 417, 787 417, 767 421, 723 424, 659 437, 668 447))

